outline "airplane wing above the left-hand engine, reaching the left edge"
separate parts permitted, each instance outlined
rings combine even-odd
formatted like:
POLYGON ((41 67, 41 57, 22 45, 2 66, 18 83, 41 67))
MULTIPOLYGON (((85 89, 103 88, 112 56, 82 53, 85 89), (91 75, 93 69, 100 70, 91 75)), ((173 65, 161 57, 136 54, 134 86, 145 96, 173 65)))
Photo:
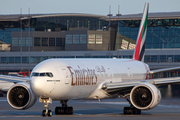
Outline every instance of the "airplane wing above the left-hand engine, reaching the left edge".
POLYGON ((0 80, 8 81, 8 82, 28 82, 30 80, 29 77, 15 77, 15 76, 8 76, 8 75, 0 75, 0 80))

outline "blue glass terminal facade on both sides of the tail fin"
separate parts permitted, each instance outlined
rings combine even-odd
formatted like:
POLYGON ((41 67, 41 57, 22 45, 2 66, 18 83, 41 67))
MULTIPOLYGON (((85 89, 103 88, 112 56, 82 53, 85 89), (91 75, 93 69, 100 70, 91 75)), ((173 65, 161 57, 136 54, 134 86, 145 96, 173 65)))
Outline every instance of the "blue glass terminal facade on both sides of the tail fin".
MULTIPOLYGON (((179 19, 148 20, 146 49, 180 48, 179 19)), ((117 27, 116 49, 134 49, 140 21, 119 21, 117 27)))

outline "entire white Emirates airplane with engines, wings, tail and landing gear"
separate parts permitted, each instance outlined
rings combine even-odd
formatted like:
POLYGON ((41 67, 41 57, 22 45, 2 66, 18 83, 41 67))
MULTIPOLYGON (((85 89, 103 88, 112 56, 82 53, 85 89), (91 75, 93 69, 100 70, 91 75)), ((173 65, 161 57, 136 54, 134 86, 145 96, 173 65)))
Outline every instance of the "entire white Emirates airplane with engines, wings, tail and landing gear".
MULTIPOLYGON (((108 99, 124 97, 130 107, 124 114, 141 114, 141 110, 156 107, 161 101, 157 85, 179 83, 180 77, 148 79, 148 75, 167 68, 151 71, 143 62, 147 31, 149 3, 145 3, 133 59, 48 59, 32 70, 30 79, 14 82, 7 93, 8 103, 15 109, 25 110, 34 105, 37 98, 45 103, 42 116, 52 116, 49 104, 60 101, 62 107, 55 108, 56 115, 73 114, 71 99, 108 99)), ((2 78, 0 76, 0 79, 2 78)))

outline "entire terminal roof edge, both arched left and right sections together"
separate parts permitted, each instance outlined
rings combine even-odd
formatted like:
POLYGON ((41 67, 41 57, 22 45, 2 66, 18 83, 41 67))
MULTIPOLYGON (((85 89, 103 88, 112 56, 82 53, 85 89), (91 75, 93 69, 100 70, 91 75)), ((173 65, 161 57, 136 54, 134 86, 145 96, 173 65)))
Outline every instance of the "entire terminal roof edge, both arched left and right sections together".
MULTIPOLYGON (((116 20, 141 20, 142 13, 139 14, 127 14, 120 16, 107 17, 104 15, 83 14, 83 13, 53 13, 53 14, 14 14, 14 15, 0 15, 0 21, 19 21, 20 19, 42 18, 42 17, 62 17, 62 16, 80 16, 80 17, 97 17, 104 20, 116 21, 116 20)), ((180 19, 180 12, 160 12, 149 13, 148 19, 180 19)))

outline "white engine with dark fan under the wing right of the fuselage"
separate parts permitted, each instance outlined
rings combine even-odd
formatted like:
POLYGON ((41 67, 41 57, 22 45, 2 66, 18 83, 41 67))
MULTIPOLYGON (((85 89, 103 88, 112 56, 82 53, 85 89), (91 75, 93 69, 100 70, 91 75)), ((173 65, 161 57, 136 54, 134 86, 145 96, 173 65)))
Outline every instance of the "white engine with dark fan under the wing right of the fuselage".
POLYGON ((134 107, 140 110, 148 110, 159 104, 161 93, 156 86, 145 82, 138 84, 131 90, 130 100, 134 107))

